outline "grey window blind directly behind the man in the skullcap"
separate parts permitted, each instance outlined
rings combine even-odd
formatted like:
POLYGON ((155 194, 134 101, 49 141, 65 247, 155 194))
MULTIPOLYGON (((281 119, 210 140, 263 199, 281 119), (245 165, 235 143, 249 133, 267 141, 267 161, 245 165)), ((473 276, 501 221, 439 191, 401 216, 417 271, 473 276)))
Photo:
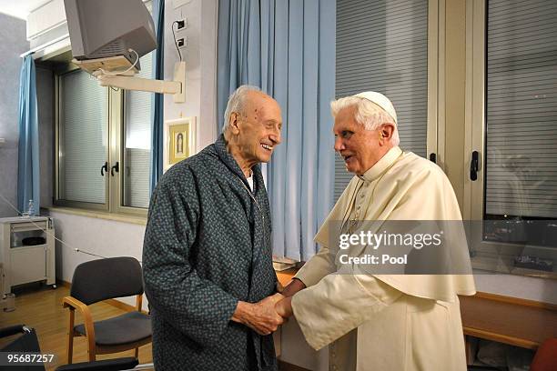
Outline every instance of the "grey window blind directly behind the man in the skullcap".
MULTIPOLYGON (((426 155, 428 104, 428 1, 337 2, 336 95, 363 91, 387 95, 398 115, 400 147, 426 155)), ((348 185, 335 157, 335 199, 348 185)))

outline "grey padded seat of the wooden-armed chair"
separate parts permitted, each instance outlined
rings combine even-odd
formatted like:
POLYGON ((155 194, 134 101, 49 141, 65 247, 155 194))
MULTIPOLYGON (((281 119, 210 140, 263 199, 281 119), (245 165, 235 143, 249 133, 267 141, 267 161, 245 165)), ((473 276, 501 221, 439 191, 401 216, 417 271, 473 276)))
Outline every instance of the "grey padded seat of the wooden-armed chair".
MULTIPOLYGON (((97 346, 121 346, 151 336, 151 317, 134 311, 94 323, 97 346)), ((76 333, 86 336, 85 326, 74 327, 76 333)))

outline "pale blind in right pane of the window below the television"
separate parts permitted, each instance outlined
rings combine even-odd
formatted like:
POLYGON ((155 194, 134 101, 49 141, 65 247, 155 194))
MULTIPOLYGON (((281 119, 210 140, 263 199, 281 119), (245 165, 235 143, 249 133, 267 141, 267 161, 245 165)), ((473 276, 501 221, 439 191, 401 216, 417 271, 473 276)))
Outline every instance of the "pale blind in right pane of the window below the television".
MULTIPOLYGON (((152 78, 153 53, 139 59, 137 77, 152 78)), ((151 108, 153 93, 126 91, 124 206, 149 206, 149 154, 151 150, 151 108)))

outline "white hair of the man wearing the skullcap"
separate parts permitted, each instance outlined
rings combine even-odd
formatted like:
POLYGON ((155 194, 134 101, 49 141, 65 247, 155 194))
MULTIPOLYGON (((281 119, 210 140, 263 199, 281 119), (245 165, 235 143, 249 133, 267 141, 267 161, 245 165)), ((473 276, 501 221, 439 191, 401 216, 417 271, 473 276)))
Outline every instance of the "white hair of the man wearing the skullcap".
POLYGON ((394 131, 390 136, 390 143, 392 145, 399 145, 399 128, 395 120, 383 108, 370 102, 368 99, 358 96, 339 98, 330 102, 330 113, 333 117, 336 117, 341 109, 352 105, 356 106, 354 119, 358 124, 363 125, 366 130, 377 130, 383 124, 394 125, 394 131))

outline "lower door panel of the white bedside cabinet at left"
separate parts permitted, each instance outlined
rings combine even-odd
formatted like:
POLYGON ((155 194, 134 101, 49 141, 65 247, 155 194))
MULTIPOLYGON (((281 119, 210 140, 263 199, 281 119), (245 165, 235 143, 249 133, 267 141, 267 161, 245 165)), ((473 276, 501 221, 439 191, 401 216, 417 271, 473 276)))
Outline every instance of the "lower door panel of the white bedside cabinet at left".
POLYGON ((11 286, 46 279, 45 246, 15 247, 10 253, 11 286))

